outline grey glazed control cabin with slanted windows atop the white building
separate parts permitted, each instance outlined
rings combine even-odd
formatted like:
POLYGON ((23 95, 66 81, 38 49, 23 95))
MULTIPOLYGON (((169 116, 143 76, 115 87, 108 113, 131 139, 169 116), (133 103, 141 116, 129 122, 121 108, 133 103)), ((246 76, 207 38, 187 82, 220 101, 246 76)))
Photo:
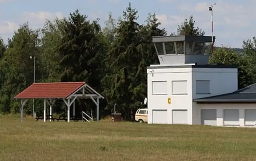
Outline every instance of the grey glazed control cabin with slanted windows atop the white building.
POLYGON ((208 63, 209 53, 204 52, 205 44, 212 42, 211 36, 177 35, 152 38, 161 65, 208 63))

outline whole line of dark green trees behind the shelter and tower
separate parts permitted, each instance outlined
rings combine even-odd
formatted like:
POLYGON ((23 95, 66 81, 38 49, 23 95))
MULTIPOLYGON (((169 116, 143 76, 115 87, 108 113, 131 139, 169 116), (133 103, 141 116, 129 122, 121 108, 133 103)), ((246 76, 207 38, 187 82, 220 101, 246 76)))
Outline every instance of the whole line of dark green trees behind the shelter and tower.
MULTIPOLYGON (((152 36, 165 36, 155 14, 149 14, 145 24, 137 22, 138 11, 128 7, 120 19, 109 14, 105 26, 99 19, 89 20, 78 10, 68 18, 46 20, 33 30, 28 22, 21 25, 4 44, 0 39, 0 113, 19 113, 20 104, 13 97, 33 83, 33 59, 36 57, 36 82, 86 81, 105 99, 100 101, 100 115, 111 114, 117 104, 126 120, 142 108, 147 96, 146 68, 158 64, 152 36)), ((179 34, 204 35, 195 26, 193 16, 178 26, 179 34)), ((172 33, 173 34, 173 33, 172 33)), ((216 47, 209 63, 239 67, 239 88, 250 85, 256 78, 256 39, 243 41, 243 50, 216 47)), ((42 113, 42 100, 35 101, 37 114, 42 113)), ((96 113, 90 100, 79 100, 77 111, 96 113)), ((32 113, 32 101, 24 109, 32 113)), ((65 104, 57 101, 53 112, 66 112, 65 104)))

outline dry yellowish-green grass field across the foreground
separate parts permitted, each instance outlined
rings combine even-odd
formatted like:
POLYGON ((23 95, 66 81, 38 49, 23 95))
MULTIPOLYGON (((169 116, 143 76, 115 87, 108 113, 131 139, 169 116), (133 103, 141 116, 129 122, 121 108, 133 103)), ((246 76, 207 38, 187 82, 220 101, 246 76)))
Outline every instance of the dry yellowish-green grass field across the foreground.
POLYGON ((256 129, 0 116, 1 161, 256 160, 256 129))

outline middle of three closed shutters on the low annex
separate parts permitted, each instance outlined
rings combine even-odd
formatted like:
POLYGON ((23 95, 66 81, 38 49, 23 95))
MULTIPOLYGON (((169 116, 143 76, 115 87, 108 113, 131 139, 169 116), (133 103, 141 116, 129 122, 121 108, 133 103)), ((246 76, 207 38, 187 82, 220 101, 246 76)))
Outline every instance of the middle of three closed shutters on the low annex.
POLYGON ((227 126, 239 126, 239 110, 224 110, 223 123, 227 126))

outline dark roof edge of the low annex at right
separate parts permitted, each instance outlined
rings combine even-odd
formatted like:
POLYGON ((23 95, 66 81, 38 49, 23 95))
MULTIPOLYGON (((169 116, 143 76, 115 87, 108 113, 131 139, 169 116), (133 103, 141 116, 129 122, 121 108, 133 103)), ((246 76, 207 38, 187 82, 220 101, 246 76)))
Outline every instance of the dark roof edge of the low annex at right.
POLYGON ((194 99, 197 103, 255 103, 256 99, 194 99))

